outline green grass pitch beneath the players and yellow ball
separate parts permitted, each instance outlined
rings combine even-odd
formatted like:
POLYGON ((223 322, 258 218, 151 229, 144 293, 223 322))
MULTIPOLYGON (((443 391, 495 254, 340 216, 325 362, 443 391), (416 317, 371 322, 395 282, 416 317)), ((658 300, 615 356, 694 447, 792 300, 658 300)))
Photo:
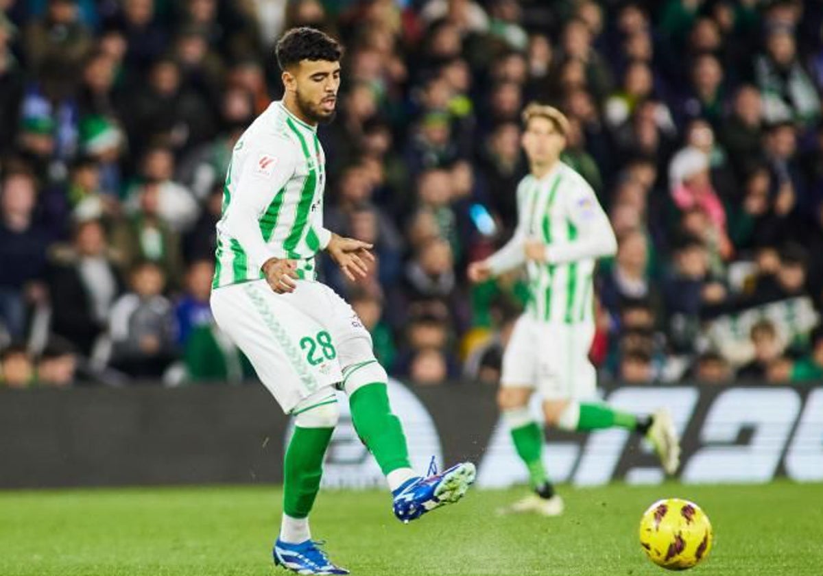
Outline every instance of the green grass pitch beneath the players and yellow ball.
MULTIPOLYGON (((695 576, 823 574, 823 485, 562 487, 562 518, 498 518, 523 490, 472 491, 406 526, 384 492, 325 491, 313 536, 356 576, 667 574, 637 540, 655 499, 693 499, 714 526, 695 576)), ((3 576, 272 576, 279 489, 0 492, 3 576)))

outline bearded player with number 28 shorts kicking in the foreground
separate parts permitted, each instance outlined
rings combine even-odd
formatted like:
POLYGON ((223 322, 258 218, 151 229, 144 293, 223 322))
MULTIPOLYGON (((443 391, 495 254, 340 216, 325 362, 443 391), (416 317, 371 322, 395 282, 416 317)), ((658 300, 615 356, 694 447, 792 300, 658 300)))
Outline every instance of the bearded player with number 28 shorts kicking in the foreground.
POLYGON ((323 227, 326 162, 317 125, 334 117, 341 53, 337 41, 310 28, 288 30, 278 41, 285 93, 235 145, 211 297, 217 324, 295 418, 272 553, 276 564, 300 574, 348 574, 312 541, 308 522, 337 425, 336 387, 348 395, 357 434, 384 472, 400 520, 458 501, 475 478, 471 462, 427 478, 412 470, 369 332, 349 304, 315 280, 321 250, 352 281, 374 259, 371 244, 323 227))

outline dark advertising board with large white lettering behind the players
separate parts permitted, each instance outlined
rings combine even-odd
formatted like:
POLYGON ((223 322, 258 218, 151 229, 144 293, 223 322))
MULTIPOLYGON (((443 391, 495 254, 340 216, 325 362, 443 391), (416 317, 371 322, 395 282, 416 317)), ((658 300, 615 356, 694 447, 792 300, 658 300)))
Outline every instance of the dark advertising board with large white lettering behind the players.
MULTIPOLYGON (((683 434, 682 481, 823 481, 823 387, 605 388, 616 406, 667 406, 683 434)), ((470 458, 478 482, 526 480, 494 390, 471 384, 390 388, 412 462, 470 458)), ((382 485, 343 416, 327 456, 331 486, 382 485)), ((539 414, 537 402, 532 406, 539 414)), ((261 386, 0 393, 0 487, 280 482, 289 422, 261 386)), ((663 480, 648 447, 623 430, 546 435, 556 481, 663 480)))

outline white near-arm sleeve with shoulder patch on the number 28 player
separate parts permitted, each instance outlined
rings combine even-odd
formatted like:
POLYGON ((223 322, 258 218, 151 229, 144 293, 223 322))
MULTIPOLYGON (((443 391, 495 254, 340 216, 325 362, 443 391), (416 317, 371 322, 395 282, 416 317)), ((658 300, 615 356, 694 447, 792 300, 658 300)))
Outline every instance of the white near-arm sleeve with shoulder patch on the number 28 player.
POLYGON ((234 191, 226 208, 225 225, 252 262, 263 266, 275 256, 260 231, 260 216, 272 203, 275 194, 295 174, 295 146, 286 138, 252 145, 238 167, 234 191))

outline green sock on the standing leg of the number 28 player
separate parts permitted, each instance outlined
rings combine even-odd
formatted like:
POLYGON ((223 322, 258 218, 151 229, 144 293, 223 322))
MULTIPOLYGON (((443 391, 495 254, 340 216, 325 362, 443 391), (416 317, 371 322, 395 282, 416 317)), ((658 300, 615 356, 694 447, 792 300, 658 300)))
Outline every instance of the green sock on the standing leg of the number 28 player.
POLYGON ((323 476, 323 456, 333 428, 295 426, 283 470, 283 512, 291 518, 306 518, 314 505, 323 476))

